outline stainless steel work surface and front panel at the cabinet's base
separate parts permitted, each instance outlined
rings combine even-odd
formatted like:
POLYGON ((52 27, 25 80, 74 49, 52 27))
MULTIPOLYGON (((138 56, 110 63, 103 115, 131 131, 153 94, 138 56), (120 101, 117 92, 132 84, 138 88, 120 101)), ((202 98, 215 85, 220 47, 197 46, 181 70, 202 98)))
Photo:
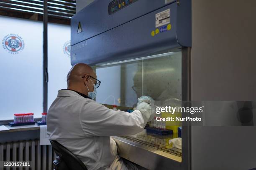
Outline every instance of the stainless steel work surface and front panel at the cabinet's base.
POLYGON ((118 154, 149 170, 181 169, 182 150, 173 148, 169 140, 173 135, 147 134, 143 136, 113 137, 118 146, 118 154))

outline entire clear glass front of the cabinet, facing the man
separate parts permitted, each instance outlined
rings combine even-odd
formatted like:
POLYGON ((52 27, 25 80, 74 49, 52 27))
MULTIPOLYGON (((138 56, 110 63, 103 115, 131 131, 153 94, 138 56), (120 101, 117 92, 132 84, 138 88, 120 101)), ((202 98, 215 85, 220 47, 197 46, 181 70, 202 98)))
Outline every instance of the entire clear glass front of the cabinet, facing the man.
POLYGON ((181 100, 181 52, 143 60, 96 67, 96 101, 108 105, 136 106, 138 97, 149 95, 157 106, 181 100))

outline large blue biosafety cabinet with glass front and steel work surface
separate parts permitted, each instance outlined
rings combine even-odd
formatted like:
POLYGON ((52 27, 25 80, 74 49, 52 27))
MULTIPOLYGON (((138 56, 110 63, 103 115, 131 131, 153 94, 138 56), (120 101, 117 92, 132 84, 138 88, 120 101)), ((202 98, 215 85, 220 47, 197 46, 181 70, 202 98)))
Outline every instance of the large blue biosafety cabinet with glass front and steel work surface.
MULTIPOLYGON (((95 68, 96 101, 132 109, 149 95, 155 105, 190 100, 191 0, 95 0, 71 20, 71 63, 95 68)), ((173 135, 114 137, 119 155, 150 170, 188 170, 190 129, 182 150, 173 135)))

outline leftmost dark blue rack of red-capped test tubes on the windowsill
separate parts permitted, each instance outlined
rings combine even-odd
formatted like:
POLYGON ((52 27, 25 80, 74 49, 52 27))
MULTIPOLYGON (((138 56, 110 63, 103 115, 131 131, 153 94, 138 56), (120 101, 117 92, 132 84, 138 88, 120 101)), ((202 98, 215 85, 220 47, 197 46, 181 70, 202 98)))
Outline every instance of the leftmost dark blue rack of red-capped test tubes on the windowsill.
POLYGON ((10 126, 34 125, 33 113, 14 114, 13 122, 9 122, 10 126))

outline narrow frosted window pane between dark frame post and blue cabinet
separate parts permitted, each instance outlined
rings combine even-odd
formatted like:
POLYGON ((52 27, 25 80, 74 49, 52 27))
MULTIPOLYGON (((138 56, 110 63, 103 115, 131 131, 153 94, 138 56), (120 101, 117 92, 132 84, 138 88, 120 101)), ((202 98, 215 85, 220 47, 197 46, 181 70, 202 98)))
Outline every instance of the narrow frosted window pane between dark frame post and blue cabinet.
POLYGON ((48 23, 48 108, 58 90, 67 88, 70 64, 70 25, 48 23))

